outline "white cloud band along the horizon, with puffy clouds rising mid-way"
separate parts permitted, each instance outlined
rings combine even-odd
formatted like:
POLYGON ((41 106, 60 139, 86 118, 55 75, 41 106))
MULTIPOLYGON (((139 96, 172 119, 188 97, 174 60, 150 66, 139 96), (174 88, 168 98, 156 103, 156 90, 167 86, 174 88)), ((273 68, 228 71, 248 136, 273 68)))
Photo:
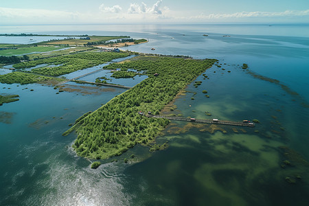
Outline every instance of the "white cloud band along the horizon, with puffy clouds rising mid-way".
POLYGON ((60 10, 18 9, 0 7, 0 24, 8 23, 173 23, 173 22, 253 22, 253 21, 300 21, 309 19, 309 10, 283 12, 235 12, 230 14, 192 14, 191 11, 169 10, 163 1, 153 5, 131 3, 129 8, 119 5, 100 5, 100 12, 67 12, 60 10))

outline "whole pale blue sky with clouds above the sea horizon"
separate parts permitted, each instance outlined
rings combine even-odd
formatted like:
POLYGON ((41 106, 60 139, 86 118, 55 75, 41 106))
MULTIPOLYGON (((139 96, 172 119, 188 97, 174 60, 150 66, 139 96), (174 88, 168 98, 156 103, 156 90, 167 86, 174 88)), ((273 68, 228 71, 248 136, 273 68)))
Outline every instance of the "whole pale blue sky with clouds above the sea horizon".
POLYGON ((10 0, 0 24, 309 23, 309 0, 10 0))

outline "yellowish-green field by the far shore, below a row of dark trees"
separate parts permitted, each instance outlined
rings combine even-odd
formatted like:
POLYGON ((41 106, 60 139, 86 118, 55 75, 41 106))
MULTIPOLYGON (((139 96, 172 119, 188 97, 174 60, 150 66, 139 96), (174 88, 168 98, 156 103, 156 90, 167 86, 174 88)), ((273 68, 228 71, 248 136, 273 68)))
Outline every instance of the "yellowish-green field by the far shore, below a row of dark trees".
MULTIPOLYGON (((87 36, 84 36, 82 38, 85 38, 87 36)), ((82 46, 87 43, 93 43, 93 42, 101 42, 101 41, 110 41, 113 39, 119 39, 119 38, 129 38, 129 36, 88 36, 90 40, 87 39, 64 39, 59 41, 50 41, 50 42, 44 42, 41 44, 44 45, 74 45, 74 46, 82 46)))

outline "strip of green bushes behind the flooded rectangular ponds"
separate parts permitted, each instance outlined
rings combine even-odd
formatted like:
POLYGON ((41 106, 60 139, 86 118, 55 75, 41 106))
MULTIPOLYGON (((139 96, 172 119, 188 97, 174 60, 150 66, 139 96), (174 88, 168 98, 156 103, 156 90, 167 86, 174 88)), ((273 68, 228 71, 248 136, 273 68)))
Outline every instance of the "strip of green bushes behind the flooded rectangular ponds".
POLYGON ((46 67, 32 69, 30 72, 47 76, 60 76, 80 69, 104 64, 115 58, 124 58, 127 56, 130 56, 130 52, 80 52, 78 54, 20 62, 19 64, 13 65, 13 67, 23 69, 47 64, 46 67), (49 67, 49 65, 56 65, 56 67, 49 67))

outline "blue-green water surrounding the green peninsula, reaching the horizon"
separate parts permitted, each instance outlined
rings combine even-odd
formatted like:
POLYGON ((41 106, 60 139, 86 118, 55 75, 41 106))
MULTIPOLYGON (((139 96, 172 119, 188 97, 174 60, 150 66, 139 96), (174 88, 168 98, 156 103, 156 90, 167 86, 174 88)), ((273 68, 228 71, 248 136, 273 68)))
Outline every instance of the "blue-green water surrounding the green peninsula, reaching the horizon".
MULTIPOLYGON (((198 77, 197 88, 190 84, 172 113, 261 124, 211 128, 172 122, 157 139, 169 141, 167 150, 149 153, 137 146, 116 157, 117 163, 102 161, 91 170, 71 150, 76 136, 61 134, 124 89, 70 83, 70 92, 56 94, 40 84, 1 84, 0 93, 19 94, 20 100, 0 107, 6 115, 0 121, 0 205, 308 205, 308 25, 1 27, 1 33, 12 32, 128 35, 149 39, 126 48, 132 51, 216 58, 221 67, 205 71, 205 80, 198 77), (279 83, 253 77, 240 68, 243 63, 279 83), (293 154, 293 165, 282 169, 286 152, 293 154), (131 154, 140 162, 123 163, 131 154)), ((122 83, 135 84, 130 81, 122 83)))

